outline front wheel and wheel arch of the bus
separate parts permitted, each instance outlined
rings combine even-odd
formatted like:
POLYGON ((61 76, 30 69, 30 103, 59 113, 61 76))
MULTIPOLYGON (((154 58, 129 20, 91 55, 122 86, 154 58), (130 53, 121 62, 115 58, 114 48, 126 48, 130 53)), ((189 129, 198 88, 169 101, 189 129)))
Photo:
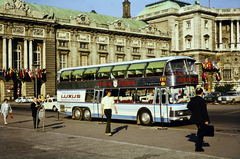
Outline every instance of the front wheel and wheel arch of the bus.
POLYGON ((150 126, 153 123, 152 113, 147 108, 141 108, 137 113, 137 124, 150 126))

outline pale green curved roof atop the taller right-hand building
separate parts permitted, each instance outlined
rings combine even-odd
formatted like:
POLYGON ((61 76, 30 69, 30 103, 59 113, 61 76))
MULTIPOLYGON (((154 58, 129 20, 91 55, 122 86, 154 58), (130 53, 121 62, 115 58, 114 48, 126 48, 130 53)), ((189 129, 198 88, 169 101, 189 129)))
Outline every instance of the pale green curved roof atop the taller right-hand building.
POLYGON ((161 1, 153 5, 147 5, 146 8, 143 11, 141 11, 137 16, 141 16, 144 14, 149 14, 149 13, 153 13, 153 12, 157 12, 157 11, 165 10, 169 8, 179 9, 180 6, 178 5, 178 3, 174 1, 161 1))

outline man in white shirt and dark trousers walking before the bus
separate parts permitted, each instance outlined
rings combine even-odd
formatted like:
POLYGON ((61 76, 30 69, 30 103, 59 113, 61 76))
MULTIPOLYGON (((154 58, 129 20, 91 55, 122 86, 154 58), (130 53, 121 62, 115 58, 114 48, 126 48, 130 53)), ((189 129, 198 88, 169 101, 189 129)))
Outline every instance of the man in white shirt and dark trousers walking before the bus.
POLYGON ((111 117, 112 117, 112 107, 115 109, 115 113, 117 114, 117 109, 114 104, 113 97, 111 96, 111 91, 106 91, 107 95, 102 99, 102 116, 104 114, 107 117, 107 125, 105 130, 105 135, 111 136, 111 117), (104 110, 104 111, 103 111, 104 110))

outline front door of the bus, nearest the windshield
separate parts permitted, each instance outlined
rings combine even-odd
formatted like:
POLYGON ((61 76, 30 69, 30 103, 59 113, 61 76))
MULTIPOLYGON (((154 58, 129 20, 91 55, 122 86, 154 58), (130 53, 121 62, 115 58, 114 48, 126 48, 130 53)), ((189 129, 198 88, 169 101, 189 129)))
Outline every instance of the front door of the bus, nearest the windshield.
MULTIPOLYGON (((160 122, 168 122, 168 93, 167 88, 157 89, 157 104, 159 104, 160 122)), ((156 110, 158 112, 158 110, 156 110)))

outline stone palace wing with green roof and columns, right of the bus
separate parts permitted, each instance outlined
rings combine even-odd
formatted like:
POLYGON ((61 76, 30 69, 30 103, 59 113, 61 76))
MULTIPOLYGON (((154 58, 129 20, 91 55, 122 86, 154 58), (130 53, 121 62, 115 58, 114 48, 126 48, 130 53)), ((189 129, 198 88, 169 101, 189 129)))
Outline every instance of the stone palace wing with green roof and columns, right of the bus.
POLYGON ((171 55, 196 59, 199 84, 214 91, 215 85, 234 84, 240 88, 240 9, 216 9, 177 0, 163 0, 147 5, 133 19, 164 28, 171 37, 171 55), (218 63, 220 70, 203 70, 203 62, 218 63), (202 80, 206 71, 207 79, 202 80), (221 80, 216 80, 220 73, 221 80))

